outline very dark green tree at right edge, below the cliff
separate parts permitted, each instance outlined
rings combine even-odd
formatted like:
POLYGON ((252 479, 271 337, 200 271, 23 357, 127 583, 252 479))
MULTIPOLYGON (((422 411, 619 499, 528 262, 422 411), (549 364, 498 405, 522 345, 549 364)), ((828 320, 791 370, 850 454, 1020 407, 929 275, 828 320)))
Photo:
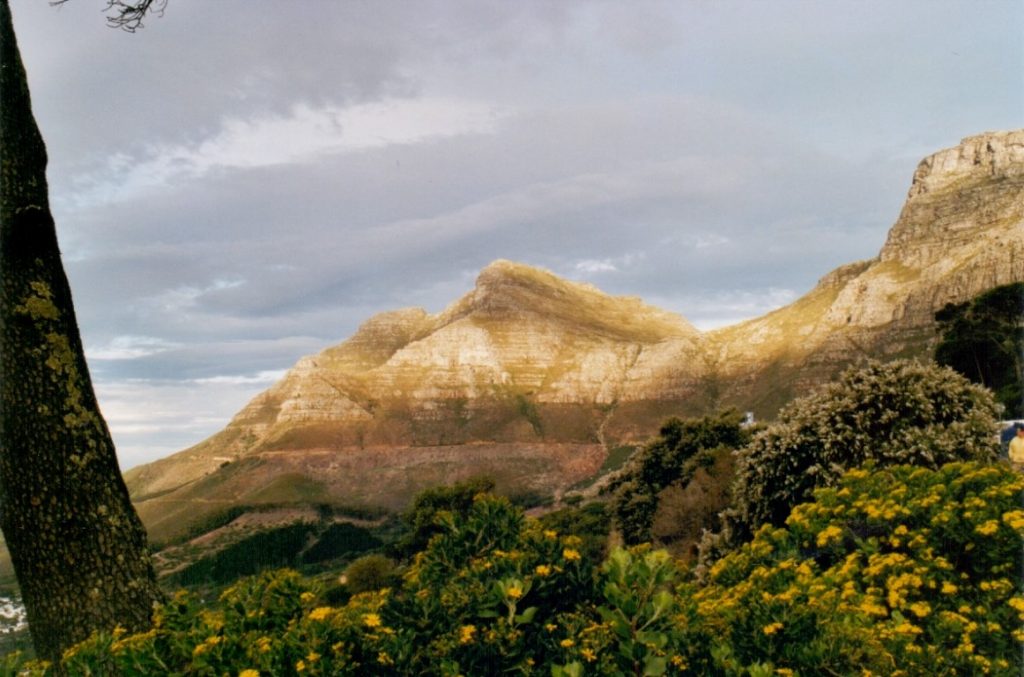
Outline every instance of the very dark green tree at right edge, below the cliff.
POLYGON ((1007 418, 1024 418, 1024 283, 949 304, 935 320, 935 361, 991 388, 1007 418))

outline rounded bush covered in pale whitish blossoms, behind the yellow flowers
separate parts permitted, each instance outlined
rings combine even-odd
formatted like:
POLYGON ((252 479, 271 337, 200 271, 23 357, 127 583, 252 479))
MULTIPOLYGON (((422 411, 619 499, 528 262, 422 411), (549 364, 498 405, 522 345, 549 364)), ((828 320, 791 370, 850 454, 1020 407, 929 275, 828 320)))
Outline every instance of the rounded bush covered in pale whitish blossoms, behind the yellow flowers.
POLYGON ((996 414, 988 390, 947 368, 906 361, 851 368, 786 406, 740 454, 729 520, 738 533, 727 539, 780 526, 815 489, 867 461, 937 468, 994 459, 996 414))

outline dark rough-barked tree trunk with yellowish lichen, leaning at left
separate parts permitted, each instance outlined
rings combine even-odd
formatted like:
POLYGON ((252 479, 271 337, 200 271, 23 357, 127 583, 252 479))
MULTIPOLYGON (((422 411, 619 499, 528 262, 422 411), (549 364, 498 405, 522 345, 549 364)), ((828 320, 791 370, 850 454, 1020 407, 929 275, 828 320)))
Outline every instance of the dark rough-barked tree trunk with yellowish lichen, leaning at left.
POLYGON ((161 598, 82 350, 10 8, 0 0, 0 527, 40 658, 161 598))

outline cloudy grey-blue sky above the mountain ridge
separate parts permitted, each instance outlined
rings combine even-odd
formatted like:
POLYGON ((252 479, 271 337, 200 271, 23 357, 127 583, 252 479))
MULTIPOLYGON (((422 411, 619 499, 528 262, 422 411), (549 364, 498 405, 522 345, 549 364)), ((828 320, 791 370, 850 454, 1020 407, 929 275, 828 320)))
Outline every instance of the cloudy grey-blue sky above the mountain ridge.
POLYGON ((496 258, 761 314, 1024 126, 1020 0, 11 4, 123 467, 496 258))

